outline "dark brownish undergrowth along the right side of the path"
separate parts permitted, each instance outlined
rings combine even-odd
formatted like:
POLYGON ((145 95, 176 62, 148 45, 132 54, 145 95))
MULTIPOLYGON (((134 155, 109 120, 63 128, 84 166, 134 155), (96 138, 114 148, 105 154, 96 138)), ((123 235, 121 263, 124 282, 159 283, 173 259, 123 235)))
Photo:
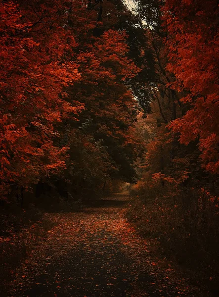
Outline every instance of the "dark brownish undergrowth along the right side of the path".
POLYGON ((202 189, 178 187, 174 191, 160 182, 135 185, 127 218, 153 241, 150 251, 155 256, 173 260, 195 283, 204 285, 210 296, 218 296, 218 200, 202 189))

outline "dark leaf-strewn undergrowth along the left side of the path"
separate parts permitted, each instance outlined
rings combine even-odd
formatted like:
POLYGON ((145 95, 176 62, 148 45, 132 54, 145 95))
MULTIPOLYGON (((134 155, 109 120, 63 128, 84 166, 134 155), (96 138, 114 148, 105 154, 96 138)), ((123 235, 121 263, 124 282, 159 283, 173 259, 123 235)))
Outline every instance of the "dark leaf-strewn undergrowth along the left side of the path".
POLYGON ((54 226, 55 222, 40 208, 23 209, 20 205, 10 204, 1 208, 0 283, 3 291, 20 264, 28 262, 33 247, 54 226))

